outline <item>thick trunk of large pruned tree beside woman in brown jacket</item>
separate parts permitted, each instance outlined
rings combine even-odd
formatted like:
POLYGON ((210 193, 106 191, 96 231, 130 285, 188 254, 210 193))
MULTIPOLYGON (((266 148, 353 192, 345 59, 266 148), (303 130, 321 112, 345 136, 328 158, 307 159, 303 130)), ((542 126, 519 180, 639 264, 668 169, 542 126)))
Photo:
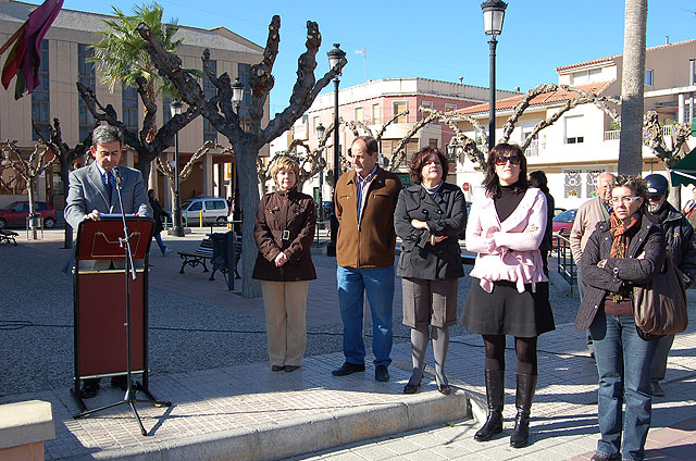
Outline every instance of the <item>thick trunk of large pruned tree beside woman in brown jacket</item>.
POLYGON ((235 144, 235 152, 237 158, 237 177, 239 180, 239 195, 237 200, 241 199, 243 213, 243 238, 241 238, 241 296, 244 298, 258 298, 261 296, 261 284, 259 281, 251 278, 253 265, 257 261, 256 239, 253 238, 253 224, 259 208, 259 187, 257 180, 257 157, 261 149, 260 146, 253 146, 250 141, 235 144))

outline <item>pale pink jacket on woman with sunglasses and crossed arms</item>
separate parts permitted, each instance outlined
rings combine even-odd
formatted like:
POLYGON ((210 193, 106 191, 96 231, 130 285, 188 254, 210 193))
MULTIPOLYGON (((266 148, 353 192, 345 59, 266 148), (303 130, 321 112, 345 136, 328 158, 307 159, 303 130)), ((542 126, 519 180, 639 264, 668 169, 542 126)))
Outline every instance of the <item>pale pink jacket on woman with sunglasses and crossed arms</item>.
POLYGON ((474 201, 467 223, 467 250, 478 253, 471 276, 481 279, 481 287, 493 291, 495 281, 517 284, 548 282, 543 271, 539 244, 546 229, 546 198, 536 188, 529 188, 518 208, 502 223, 495 202, 484 196, 474 201), (535 225, 536 230, 524 232, 535 225))

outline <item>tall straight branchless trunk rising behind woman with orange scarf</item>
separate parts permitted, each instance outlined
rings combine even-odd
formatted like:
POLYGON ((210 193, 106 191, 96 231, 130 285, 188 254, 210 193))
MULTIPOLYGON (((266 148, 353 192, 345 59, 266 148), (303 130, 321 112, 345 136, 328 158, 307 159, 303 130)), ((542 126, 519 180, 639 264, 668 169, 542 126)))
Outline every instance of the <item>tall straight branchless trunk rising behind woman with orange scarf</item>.
POLYGON ((647 0, 626 0, 621 72, 621 140, 619 174, 643 171, 643 85, 647 0))

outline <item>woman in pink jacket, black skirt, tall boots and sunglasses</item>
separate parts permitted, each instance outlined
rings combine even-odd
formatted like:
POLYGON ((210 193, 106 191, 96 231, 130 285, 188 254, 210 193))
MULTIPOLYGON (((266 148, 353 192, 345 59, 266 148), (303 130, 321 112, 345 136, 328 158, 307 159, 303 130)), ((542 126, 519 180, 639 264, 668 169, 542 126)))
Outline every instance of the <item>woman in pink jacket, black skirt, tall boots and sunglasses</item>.
POLYGON ((490 150, 483 182, 467 225, 467 249, 478 253, 461 323, 483 336, 488 418, 474 439, 502 432, 506 335, 514 336, 518 358, 518 410, 510 445, 524 447, 536 388, 536 340, 555 329, 548 303, 539 244, 546 229, 546 198, 530 187, 520 147, 499 144, 490 150))

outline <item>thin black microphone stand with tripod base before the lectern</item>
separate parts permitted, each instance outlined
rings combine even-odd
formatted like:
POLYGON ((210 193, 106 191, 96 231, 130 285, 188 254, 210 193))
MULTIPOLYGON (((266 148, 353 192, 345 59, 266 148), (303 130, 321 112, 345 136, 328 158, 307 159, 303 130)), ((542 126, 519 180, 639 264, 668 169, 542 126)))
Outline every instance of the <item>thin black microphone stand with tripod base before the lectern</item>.
MULTIPOLYGON (((79 418, 86 418, 89 416, 92 413, 97 413, 99 411, 102 410, 108 410, 110 408, 114 408, 121 404, 127 404, 128 407, 130 407, 130 410, 133 411, 133 415, 135 416, 135 419, 138 421, 138 425, 140 426, 140 434, 147 436, 148 432, 145 429, 145 426, 142 425, 142 421, 140 421, 140 415, 138 414, 138 410, 136 409, 135 404, 136 403, 149 403, 152 404, 154 407, 171 407, 172 402, 167 402, 167 401, 159 401, 159 400, 154 400, 154 399, 138 399, 136 396, 136 393, 140 389, 137 389, 136 387, 133 386, 133 381, 130 379, 130 375, 132 375, 132 369, 130 369, 130 282, 128 281, 128 275, 130 275, 130 277, 133 278, 133 281, 136 281, 138 278, 136 270, 135 270, 135 264, 133 263, 133 251, 130 250, 130 232, 128 230, 128 224, 126 223, 126 215, 123 212, 124 208, 123 208, 123 196, 121 194, 121 174, 119 173, 119 169, 114 167, 113 169, 113 173, 114 173, 114 179, 116 183, 116 195, 119 197, 119 205, 121 207, 121 221, 123 222, 123 237, 119 237, 119 242, 121 248, 125 248, 125 252, 126 252, 126 258, 125 258, 125 269, 124 269, 124 275, 125 275, 125 281, 126 281, 126 323, 124 324, 124 326, 126 327, 126 379, 127 379, 127 384, 126 384, 126 394, 123 396, 123 400, 120 400, 117 402, 114 403, 110 403, 108 406, 104 407, 99 407, 96 408, 94 410, 86 410, 79 414, 76 414, 75 416, 73 416, 73 419, 77 420, 79 418), (130 274, 128 274, 130 273, 130 274)), ((147 267, 146 267, 147 270, 147 267)), ((145 346, 147 347, 147 345, 145 346)), ((147 370, 146 370, 147 372, 147 370)), ((147 390, 144 390, 147 393, 147 390)), ((149 393, 147 393, 149 394, 149 393)), ((151 396, 150 396, 151 397, 151 396)))

